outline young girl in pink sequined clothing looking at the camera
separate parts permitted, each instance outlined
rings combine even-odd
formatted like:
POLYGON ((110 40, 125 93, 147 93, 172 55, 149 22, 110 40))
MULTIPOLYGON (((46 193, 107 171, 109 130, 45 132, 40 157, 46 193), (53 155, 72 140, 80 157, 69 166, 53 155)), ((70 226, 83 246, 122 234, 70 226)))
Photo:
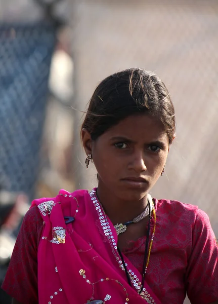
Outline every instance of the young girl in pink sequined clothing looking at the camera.
POLYGON ((154 73, 127 69, 95 90, 81 128, 98 187, 32 203, 3 289, 21 304, 218 303, 218 247, 197 206, 156 200, 175 111, 154 73))

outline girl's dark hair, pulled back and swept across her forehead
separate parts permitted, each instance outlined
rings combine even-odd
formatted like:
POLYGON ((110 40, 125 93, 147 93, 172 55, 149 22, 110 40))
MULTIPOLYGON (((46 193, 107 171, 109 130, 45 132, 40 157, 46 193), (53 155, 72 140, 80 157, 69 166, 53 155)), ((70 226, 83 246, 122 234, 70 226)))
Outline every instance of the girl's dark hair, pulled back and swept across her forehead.
POLYGON ((96 140, 122 119, 148 113, 164 126, 169 143, 175 134, 175 109, 164 83, 158 76, 141 68, 129 68, 105 78, 89 102, 81 129, 96 140))

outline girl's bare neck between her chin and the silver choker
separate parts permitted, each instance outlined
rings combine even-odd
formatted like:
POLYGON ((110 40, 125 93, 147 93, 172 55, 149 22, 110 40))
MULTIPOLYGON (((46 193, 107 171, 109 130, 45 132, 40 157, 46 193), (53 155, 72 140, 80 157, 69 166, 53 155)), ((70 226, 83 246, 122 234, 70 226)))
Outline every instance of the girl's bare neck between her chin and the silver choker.
POLYGON ((138 201, 122 200, 101 184, 98 186, 97 196, 105 213, 114 225, 133 220, 145 210, 148 204, 147 194, 138 201))

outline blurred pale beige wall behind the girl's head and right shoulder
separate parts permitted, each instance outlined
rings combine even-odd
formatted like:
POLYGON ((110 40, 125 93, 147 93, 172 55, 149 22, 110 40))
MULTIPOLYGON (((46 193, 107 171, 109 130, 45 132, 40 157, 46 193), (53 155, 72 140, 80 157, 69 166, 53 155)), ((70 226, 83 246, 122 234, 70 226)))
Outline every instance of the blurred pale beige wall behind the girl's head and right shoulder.
MULTIPOLYGON (((84 110, 110 73, 132 66, 155 71, 176 106, 177 139, 152 195, 198 205, 218 234, 217 1, 75 0, 70 20, 73 106, 84 110)), ((75 111, 76 126, 80 117, 75 111)), ((74 140, 76 186, 92 188, 95 169, 84 168, 79 139, 74 140)))

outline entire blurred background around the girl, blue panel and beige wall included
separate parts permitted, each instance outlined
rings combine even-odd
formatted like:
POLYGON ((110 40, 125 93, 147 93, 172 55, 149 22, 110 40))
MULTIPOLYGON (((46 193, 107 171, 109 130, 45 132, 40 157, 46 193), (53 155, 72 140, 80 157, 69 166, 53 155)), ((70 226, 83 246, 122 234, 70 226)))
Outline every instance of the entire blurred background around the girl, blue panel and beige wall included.
POLYGON ((156 72, 176 107, 152 196, 198 205, 218 235, 216 0, 0 0, 0 22, 0 280, 33 198, 96 186, 82 111, 103 78, 128 67, 156 72))

